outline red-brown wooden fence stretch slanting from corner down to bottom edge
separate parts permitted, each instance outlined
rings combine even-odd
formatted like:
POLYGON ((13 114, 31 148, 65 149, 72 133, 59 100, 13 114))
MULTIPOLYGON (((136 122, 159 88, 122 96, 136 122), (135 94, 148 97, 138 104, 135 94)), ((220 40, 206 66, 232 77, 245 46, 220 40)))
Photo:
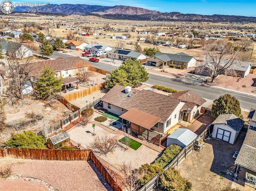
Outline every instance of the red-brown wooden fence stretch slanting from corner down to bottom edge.
POLYGON ((92 159, 92 162, 97 167, 97 169, 100 171, 104 179, 108 182, 108 184, 112 187, 114 191, 122 191, 122 189, 116 184, 116 181, 113 179, 113 177, 110 175, 108 170, 104 167, 104 165, 96 158, 96 156, 93 154, 93 152, 90 153, 90 158, 92 159))

